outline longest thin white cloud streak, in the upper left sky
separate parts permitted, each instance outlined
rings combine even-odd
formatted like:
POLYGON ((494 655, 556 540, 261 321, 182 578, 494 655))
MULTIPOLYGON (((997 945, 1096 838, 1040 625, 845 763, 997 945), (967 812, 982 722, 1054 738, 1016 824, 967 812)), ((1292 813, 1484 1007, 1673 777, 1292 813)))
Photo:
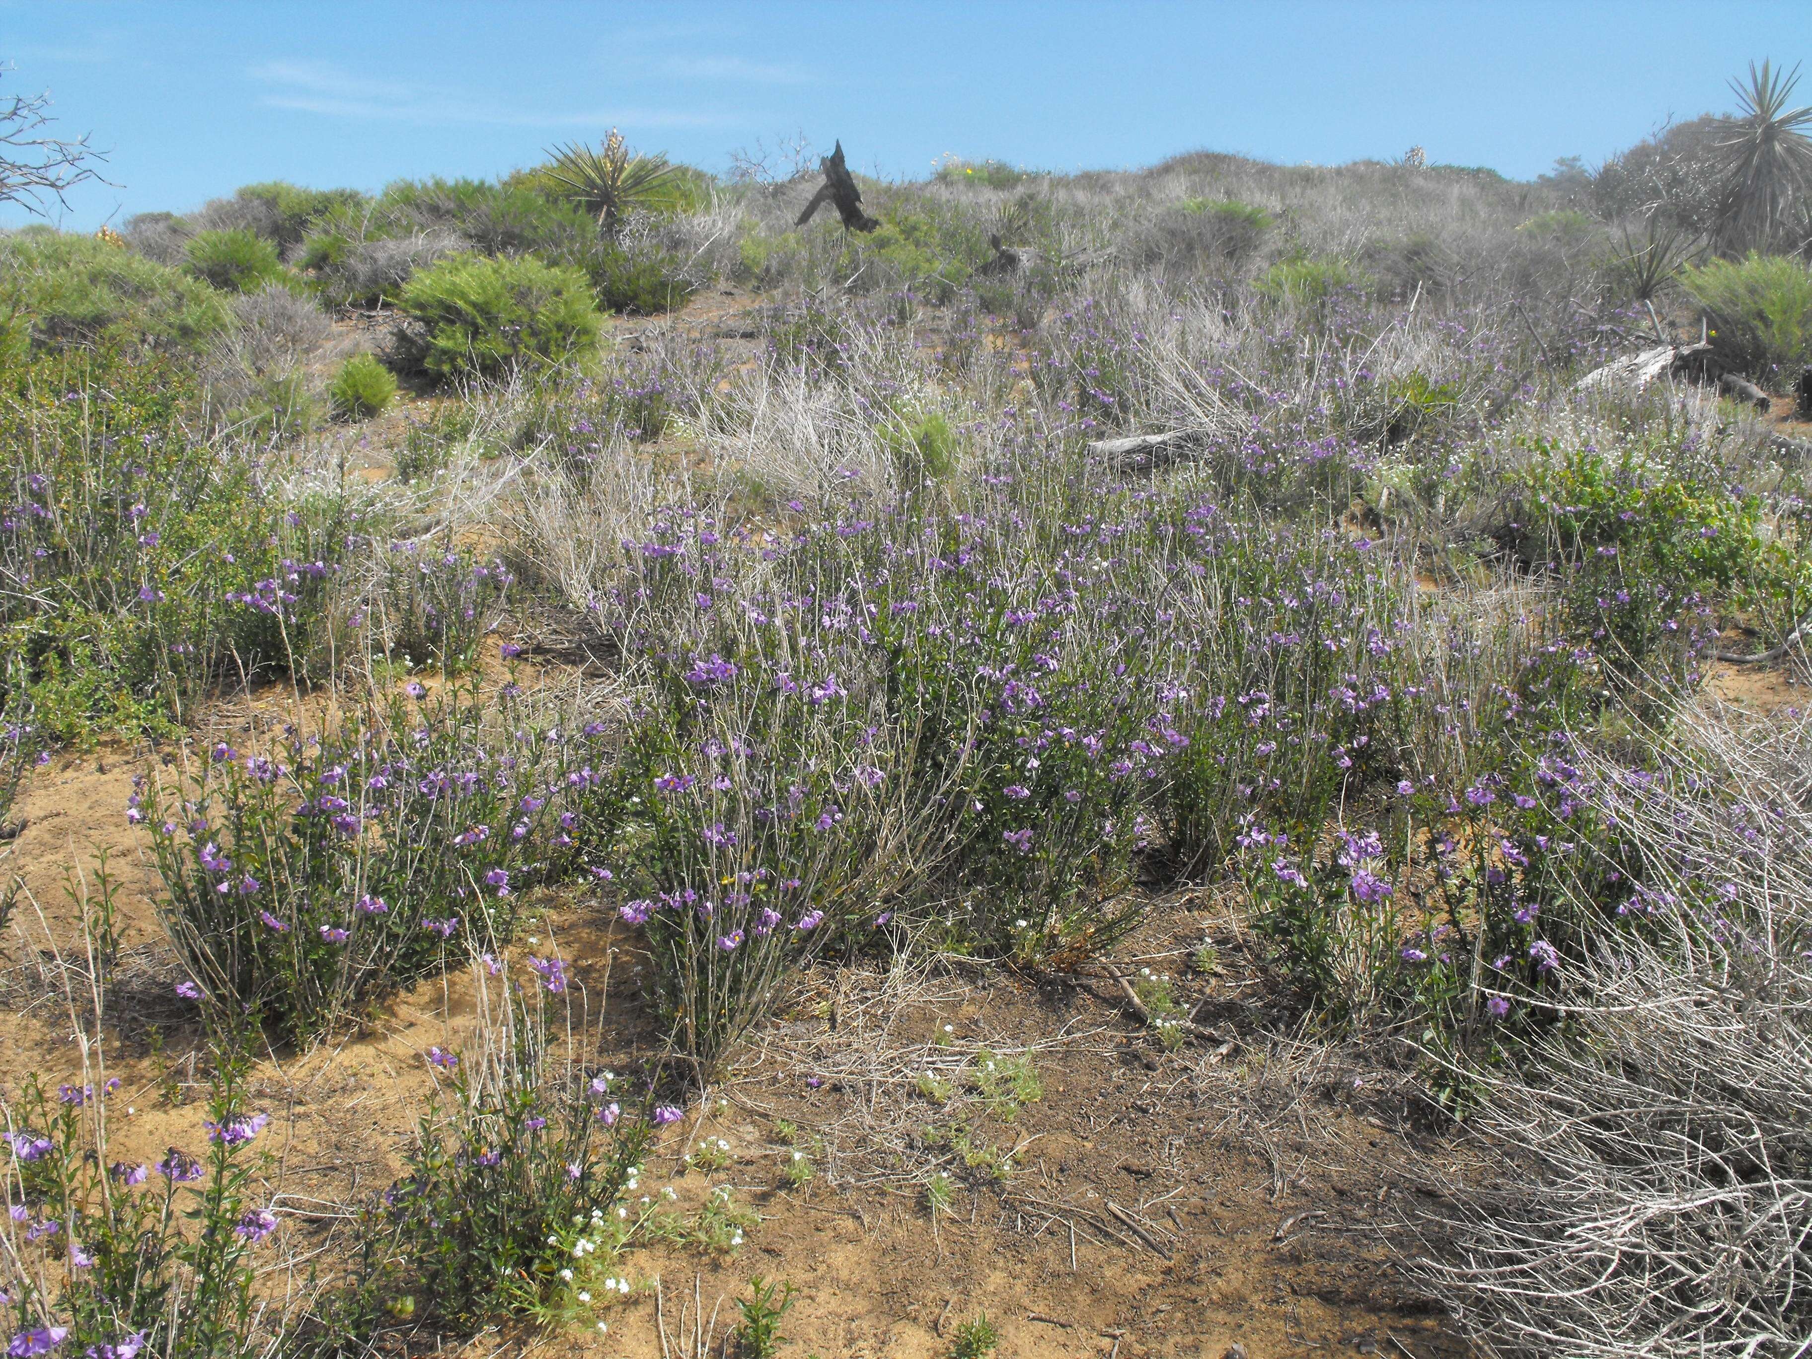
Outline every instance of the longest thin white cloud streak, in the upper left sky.
POLYGON ((448 89, 368 80, 319 62, 263 62, 248 74, 266 87, 257 100, 266 109, 359 121, 547 129, 721 127, 728 121, 685 109, 533 109, 496 96, 475 100, 448 89))

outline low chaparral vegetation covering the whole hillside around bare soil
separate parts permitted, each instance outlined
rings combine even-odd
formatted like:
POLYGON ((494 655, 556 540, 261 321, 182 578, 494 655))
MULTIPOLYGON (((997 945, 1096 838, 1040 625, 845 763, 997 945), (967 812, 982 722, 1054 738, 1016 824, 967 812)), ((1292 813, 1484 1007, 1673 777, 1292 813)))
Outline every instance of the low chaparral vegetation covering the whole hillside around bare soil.
MULTIPOLYGON (((9 1354, 614 1337, 649 1296, 665 1348, 641 1252, 757 1221, 689 1120, 812 978, 1107 978, 1200 1076, 1229 940, 1453 1149, 1379 1223, 1457 1328, 1803 1354, 1812 728, 1709 685, 1805 665, 1812 444, 1716 379, 1812 364, 1812 196, 1778 72, 1743 98, 1533 185, 946 159, 852 236, 612 134, 0 237, 0 835, 34 766, 130 752, 159 926, 123 960, 105 863, 43 924, 82 1069, 0 1104, 9 1354), (1580 386, 1656 328, 1707 366, 1580 386), (1234 935, 1134 959, 1198 895, 1234 935), (132 1042, 187 1026, 207 1089, 156 1156, 107 1069, 147 969, 132 1042), (275 1194, 259 1064, 455 991, 382 1183, 275 1194)), ((964 1053, 875 1149, 933 1234, 1064 1098, 964 1053)), ((848 1172, 776 1127, 786 1192, 848 1172)), ((748 1288, 723 1343, 772 1355, 808 1294, 748 1288)))

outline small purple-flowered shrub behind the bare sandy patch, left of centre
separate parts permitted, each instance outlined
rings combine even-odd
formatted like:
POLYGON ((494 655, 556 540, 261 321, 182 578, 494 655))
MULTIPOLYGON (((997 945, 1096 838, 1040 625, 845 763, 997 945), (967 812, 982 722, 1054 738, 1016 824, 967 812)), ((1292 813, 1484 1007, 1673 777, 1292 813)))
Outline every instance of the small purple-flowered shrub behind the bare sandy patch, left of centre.
POLYGON ((371 640, 411 667, 469 670, 504 618, 511 582, 502 562, 480 562, 469 547, 393 542, 368 605, 371 640))

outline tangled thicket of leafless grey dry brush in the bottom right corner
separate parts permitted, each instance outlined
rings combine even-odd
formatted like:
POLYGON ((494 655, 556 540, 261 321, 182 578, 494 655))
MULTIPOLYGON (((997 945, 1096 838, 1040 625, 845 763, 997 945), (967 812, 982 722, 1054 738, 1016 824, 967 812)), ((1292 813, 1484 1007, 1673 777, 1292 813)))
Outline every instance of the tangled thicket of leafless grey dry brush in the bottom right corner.
POLYGON ((1473 1073, 1489 1147, 1424 1276, 1500 1350, 1812 1350, 1812 728, 1700 723, 1627 783, 1653 930, 1607 937, 1526 1075, 1473 1073), (1716 919, 1678 919, 1691 879, 1716 919))

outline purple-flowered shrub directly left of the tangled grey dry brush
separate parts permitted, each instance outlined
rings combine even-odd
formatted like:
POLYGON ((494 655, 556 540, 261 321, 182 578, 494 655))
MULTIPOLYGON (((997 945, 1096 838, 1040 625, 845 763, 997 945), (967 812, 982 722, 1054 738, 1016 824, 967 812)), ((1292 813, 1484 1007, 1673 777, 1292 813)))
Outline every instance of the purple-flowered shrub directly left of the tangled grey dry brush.
POLYGON ((1607 937, 1647 928, 1636 846, 1576 737, 1540 734, 1526 708, 1499 739, 1464 786, 1401 781, 1373 830, 1241 830, 1256 926, 1334 1018, 1384 1009, 1437 1046, 1502 1051, 1558 1017, 1567 973, 1607 937))

